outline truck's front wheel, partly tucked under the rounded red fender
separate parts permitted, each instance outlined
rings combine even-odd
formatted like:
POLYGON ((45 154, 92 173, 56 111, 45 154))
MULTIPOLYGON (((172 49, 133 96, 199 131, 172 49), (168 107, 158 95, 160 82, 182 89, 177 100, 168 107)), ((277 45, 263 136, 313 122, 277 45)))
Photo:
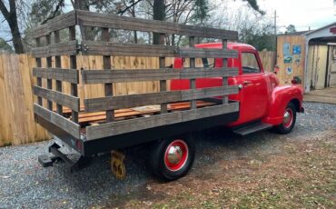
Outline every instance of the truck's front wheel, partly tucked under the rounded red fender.
POLYGON ((296 122, 296 108, 295 105, 289 103, 283 113, 283 122, 277 126, 274 126, 274 129, 279 134, 288 134, 292 132, 292 128, 296 122))

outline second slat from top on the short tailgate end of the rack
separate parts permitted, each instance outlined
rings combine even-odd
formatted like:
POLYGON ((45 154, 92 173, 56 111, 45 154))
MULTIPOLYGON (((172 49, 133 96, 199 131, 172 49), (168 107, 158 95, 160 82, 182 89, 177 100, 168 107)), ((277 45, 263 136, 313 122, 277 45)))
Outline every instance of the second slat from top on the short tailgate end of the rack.
POLYGON ((42 47, 36 47, 32 50, 35 57, 47 57, 54 55, 77 55, 77 41, 65 43, 56 43, 42 47))

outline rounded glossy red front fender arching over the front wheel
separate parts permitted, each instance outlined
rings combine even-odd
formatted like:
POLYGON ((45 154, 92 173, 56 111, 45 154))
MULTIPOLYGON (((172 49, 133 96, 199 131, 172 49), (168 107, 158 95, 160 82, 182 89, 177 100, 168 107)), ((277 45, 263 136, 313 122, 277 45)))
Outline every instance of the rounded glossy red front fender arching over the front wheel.
POLYGON ((292 102, 296 106, 296 111, 302 109, 303 90, 300 85, 277 86, 272 91, 270 110, 266 118, 262 119, 266 124, 282 124, 283 113, 287 104, 292 102))

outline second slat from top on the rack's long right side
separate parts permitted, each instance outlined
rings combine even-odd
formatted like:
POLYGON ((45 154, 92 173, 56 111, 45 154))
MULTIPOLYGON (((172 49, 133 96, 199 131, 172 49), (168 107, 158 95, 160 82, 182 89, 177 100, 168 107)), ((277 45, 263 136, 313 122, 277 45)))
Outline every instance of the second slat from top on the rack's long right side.
POLYGON ((210 48, 188 48, 172 45, 134 45, 102 41, 83 41, 84 55, 115 56, 161 56, 161 57, 195 57, 195 58, 231 58, 237 57, 236 51, 210 48))

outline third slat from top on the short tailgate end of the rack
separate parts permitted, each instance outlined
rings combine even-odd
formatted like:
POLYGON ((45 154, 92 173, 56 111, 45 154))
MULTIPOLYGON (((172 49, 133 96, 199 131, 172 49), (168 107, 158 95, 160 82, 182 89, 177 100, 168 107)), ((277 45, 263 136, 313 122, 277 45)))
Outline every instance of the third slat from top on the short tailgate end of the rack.
POLYGON ((75 69, 34 67, 33 75, 35 77, 54 79, 73 84, 79 83, 78 71, 75 69))

